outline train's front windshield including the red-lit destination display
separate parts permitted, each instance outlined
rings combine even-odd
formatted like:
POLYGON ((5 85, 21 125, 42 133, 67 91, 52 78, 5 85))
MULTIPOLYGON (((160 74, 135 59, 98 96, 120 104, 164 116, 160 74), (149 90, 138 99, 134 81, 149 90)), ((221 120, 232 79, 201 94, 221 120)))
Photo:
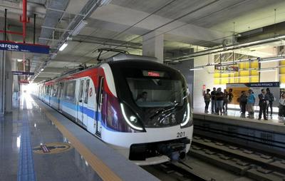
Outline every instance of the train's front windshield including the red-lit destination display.
POLYGON ((180 106, 185 98, 181 80, 167 72, 137 70, 136 76, 125 75, 135 103, 142 108, 180 106), (138 71, 141 71, 138 76, 138 71))

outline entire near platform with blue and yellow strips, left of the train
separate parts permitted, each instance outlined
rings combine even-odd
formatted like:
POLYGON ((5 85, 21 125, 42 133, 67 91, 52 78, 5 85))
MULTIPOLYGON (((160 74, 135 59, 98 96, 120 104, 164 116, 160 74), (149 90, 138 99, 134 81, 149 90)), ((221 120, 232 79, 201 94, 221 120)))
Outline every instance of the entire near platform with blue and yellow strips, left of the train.
POLYGON ((0 180, 158 180, 40 100, 14 106, 0 118, 0 180))

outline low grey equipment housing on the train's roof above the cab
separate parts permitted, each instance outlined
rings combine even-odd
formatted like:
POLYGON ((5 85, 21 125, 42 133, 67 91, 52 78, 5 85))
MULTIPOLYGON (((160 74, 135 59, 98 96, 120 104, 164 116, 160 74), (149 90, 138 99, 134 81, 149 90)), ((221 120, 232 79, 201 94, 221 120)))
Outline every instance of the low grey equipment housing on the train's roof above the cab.
POLYGON ((126 61, 126 60, 157 61, 157 58, 152 56, 138 56, 126 53, 119 53, 116 56, 108 58, 106 61, 126 61))

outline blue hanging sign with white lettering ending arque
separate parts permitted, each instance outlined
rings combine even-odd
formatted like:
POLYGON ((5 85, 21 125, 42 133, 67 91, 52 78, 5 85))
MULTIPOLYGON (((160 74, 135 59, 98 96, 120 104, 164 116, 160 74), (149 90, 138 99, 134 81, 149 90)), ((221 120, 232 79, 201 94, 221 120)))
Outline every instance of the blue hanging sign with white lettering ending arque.
POLYGON ((14 43, 12 41, 0 41, 0 50, 48 54, 49 46, 30 44, 30 43, 14 43))

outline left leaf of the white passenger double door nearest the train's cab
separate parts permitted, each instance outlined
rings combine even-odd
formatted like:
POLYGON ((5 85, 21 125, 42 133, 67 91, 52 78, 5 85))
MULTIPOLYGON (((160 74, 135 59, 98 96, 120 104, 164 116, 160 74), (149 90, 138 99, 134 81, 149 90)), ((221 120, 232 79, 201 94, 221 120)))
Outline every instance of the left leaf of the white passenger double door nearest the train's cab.
POLYGON ((83 110, 84 110, 84 84, 85 84, 85 79, 80 79, 79 80, 79 94, 78 94, 78 102, 77 102, 77 119, 76 121, 79 122, 79 124, 83 124, 83 110))

